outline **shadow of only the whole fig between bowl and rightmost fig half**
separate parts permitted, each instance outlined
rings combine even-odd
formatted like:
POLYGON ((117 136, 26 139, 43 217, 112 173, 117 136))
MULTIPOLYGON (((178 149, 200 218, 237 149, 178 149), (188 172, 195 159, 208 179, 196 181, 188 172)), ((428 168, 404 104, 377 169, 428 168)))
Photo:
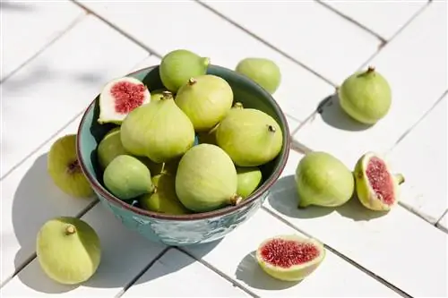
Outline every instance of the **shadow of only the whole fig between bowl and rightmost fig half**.
POLYGON ((272 185, 267 200, 272 209, 280 214, 292 218, 315 218, 324 217, 334 209, 319 206, 309 206, 304 209, 298 208, 300 197, 297 193, 294 175, 281 177, 272 185))

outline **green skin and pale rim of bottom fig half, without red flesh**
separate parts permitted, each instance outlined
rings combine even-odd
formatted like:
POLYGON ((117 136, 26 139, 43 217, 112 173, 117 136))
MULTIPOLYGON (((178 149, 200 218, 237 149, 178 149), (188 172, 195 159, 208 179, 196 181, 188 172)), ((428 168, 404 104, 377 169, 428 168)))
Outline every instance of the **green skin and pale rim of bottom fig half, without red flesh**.
MULTIPOLYGON (((275 253, 275 251, 273 251, 273 253, 275 253)), ((323 243, 320 243, 312 238, 301 237, 297 234, 285 234, 271 237, 263 241, 263 243, 259 245, 256 251, 255 259, 257 260, 258 265, 263 269, 263 271, 268 275, 270 275, 271 277, 274 277, 281 281, 294 282, 303 280, 310 274, 312 274, 314 270, 321 265, 321 263, 325 259, 325 256, 326 251, 325 248, 323 247, 323 243), (314 260, 310 260, 300 265, 293 265, 289 268, 278 268, 275 265, 271 264, 270 262, 264 260, 263 254, 261 252, 266 244, 275 240, 284 240, 296 243, 310 243, 317 249, 317 251, 319 251, 319 255, 314 260)), ((281 257, 288 258, 287 255, 281 257)))

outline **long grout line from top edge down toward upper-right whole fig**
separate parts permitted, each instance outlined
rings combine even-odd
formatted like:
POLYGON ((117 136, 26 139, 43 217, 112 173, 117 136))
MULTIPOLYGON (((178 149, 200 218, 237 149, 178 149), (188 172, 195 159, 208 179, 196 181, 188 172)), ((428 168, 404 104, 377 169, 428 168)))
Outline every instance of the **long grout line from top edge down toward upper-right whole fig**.
POLYGON ((325 78, 322 74, 320 74, 319 72, 315 72, 313 69, 311 69, 309 66, 307 66, 306 64, 301 63, 300 61, 298 61, 296 58, 292 57, 291 55, 287 54, 286 52, 282 51, 279 47, 275 47, 274 45, 272 45, 270 42, 264 40, 263 38, 259 37, 258 35, 254 34, 252 31, 247 30, 245 27, 243 27, 242 25, 238 24, 236 21, 231 20, 230 18, 228 18, 226 15, 218 12, 217 10, 215 10, 214 8, 211 8, 211 6, 204 4, 201 0, 191 0, 192 2, 195 2, 196 4, 201 5, 202 7, 204 7, 205 9, 209 10, 211 13, 216 14, 217 16, 219 16, 221 19, 223 19, 224 21, 228 21, 230 24, 232 24, 233 26, 237 27, 237 29, 242 30, 244 32, 246 32, 246 34, 248 34, 249 36, 251 36, 252 38, 255 38, 256 40, 258 40, 259 42, 263 43, 264 46, 270 47, 272 50, 276 51, 277 53, 279 53, 280 55, 286 57, 287 59, 289 59, 290 61, 292 61, 293 63, 301 66, 302 68, 306 69, 306 71, 308 72, 312 72, 314 74, 314 76, 318 77, 319 79, 327 82, 328 84, 332 85, 332 86, 336 86, 336 84, 331 81, 330 79, 325 78))

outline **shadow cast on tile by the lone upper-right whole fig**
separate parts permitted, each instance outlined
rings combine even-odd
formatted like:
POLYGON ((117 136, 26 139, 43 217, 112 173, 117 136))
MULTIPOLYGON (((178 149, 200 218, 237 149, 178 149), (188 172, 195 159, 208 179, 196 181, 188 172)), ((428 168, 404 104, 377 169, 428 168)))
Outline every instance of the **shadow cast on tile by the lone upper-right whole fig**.
POLYGON ((347 115, 347 113, 340 107, 337 93, 323 98, 317 105, 316 113, 321 115, 324 123, 342 131, 361 132, 366 131, 373 126, 359 123, 347 115))

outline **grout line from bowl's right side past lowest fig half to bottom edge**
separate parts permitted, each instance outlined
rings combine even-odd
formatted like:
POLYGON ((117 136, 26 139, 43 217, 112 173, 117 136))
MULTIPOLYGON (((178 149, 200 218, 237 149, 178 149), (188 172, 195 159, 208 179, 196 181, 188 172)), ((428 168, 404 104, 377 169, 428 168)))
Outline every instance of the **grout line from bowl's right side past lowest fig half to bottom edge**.
MULTIPOLYGON (((291 223, 289 223, 289 221, 287 221, 286 219, 280 217, 278 214, 276 214, 275 212, 271 211, 270 209, 267 209, 264 206, 262 206, 262 209, 264 211, 266 211, 267 213, 269 213, 272 217, 277 218, 282 223, 286 224, 289 227, 292 227, 294 230, 298 231, 299 233, 305 234, 307 237, 314 238, 314 239, 320 241, 318 238, 313 237, 312 234, 308 234, 305 231, 303 231, 302 229, 298 228, 297 226, 292 225, 291 223)), ((367 268, 363 267, 362 265, 358 264, 355 260, 351 260, 349 257, 347 257, 346 255, 342 254, 340 251, 335 250, 334 248, 332 248, 332 246, 330 246, 330 245, 328 245, 328 244, 326 244, 324 242, 322 242, 322 243, 323 243, 323 246, 327 250, 332 251, 332 253, 334 253, 335 255, 340 257, 340 259, 346 260, 350 265, 352 265, 355 268, 358 268, 358 270, 364 272, 369 277, 373 277, 376 281, 378 281, 381 284, 387 286, 388 288, 390 288, 395 293, 400 294, 402 297, 406 297, 406 298, 412 298, 413 297, 410 294, 408 294, 408 293, 404 292, 403 290, 401 290, 399 287, 397 287, 395 285, 392 285, 390 282, 385 280, 383 277, 380 277, 380 276, 376 275, 374 272, 372 272, 372 271, 368 270, 367 268)))

